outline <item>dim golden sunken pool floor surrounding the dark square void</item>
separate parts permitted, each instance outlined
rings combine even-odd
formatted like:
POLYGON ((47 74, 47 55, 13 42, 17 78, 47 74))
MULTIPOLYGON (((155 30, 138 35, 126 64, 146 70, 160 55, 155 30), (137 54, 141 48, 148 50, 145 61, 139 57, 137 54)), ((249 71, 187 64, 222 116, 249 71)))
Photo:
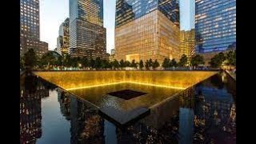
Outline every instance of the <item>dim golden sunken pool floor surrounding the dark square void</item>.
POLYGON ((110 86, 97 86, 89 89, 69 91, 70 93, 93 103, 95 106, 113 106, 115 109, 128 111, 134 110, 135 108, 141 106, 150 108, 150 106, 154 106, 154 104, 162 102, 164 99, 177 94, 182 90, 159 86, 146 86, 134 83, 122 83, 110 86), (131 98, 129 100, 108 95, 110 92, 119 90, 136 90, 146 94, 136 98, 131 98))

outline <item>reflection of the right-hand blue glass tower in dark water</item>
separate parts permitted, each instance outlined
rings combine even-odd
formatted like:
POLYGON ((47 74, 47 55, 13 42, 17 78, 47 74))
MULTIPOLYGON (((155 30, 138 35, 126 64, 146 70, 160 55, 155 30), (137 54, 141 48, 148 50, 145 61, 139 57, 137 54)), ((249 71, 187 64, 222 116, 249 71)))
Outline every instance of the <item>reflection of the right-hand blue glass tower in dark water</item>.
POLYGON ((214 141, 218 142, 219 138, 223 142, 226 138, 221 138, 222 132, 227 132, 232 137, 235 133, 235 107, 232 94, 226 89, 205 85, 198 86, 197 93, 201 102, 197 102, 194 109, 194 126, 197 131, 194 139, 210 142, 210 139, 206 138, 214 138, 214 141))

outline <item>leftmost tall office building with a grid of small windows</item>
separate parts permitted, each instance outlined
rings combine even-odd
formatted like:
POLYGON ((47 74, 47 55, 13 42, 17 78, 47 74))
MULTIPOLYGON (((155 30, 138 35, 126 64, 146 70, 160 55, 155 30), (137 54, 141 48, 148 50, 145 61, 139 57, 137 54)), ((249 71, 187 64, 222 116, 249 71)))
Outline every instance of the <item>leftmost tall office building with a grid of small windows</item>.
POLYGON ((40 41, 39 1, 20 0, 20 56, 30 48, 42 57, 48 43, 40 41))

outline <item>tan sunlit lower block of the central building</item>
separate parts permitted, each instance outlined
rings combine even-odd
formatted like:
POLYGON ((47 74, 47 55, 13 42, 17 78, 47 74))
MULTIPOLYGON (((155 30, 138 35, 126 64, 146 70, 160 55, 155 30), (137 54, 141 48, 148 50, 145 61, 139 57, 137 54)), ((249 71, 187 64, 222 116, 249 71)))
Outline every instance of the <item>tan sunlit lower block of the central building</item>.
POLYGON ((115 58, 137 62, 180 57, 179 28, 154 10, 115 29, 115 58))

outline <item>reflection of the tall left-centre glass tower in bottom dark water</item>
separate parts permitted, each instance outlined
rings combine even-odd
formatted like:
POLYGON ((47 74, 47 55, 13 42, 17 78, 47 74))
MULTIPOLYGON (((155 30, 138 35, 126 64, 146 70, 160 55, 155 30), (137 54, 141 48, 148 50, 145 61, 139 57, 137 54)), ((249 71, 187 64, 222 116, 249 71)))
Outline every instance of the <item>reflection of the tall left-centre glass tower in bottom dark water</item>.
POLYGON ((86 102, 70 97, 71 143, 103 143, 104 120, 86 102))

